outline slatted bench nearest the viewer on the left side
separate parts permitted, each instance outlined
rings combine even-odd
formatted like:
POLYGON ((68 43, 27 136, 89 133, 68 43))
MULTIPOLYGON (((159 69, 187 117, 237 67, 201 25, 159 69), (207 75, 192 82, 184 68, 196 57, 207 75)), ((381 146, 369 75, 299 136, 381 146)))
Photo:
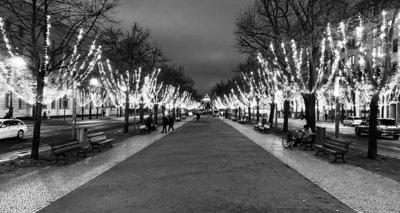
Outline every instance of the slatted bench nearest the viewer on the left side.
POLYGON ((83 155, 84 157, 86 156, 86 150, 89 148, 88 146, 81 146, 79 144, 79 141, 72 141, 69 143, 64 143, 64 144, 49 144, 51 147, 51 151, 53 154, 57 157, 56 163, 58 163, 60 157, 63 157, 64 163, 66 163, 65 157, 66 154, 69 152, 75 152, 77 151, 77 155, 83 155))

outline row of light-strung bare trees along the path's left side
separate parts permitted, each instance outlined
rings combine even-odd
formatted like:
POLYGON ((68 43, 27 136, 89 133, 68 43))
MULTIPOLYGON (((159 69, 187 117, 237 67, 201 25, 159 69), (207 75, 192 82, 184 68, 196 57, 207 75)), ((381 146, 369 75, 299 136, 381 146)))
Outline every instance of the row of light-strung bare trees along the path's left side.
POLYGON ((5 89, 28 100, 35 108, 32 158, 39 158, 43 105, 66 94, 78 97, 80 91, 81 104, 87 102, 87 98, 104 101, 106 96, 114 97, 115 102, 117 94, 126 94, 123 103, 128 116, 129 97, 135 92, 137 95, 141 91, 144 99, 146 92, 170 91, 167 84, 173 84, 174 97, 181 97, 179 100, 185 97, 179 104, 195 105, 190 100, 192 96, 184 93, 185 90, 195 93, 193 81, 183 75, 181 68, 167 65, 166 57, 150 41, 148 30, 137 23, 128 31, 109 27, 117 23, 112 13, 118 3, 118 0, 0 2, 1 12, 6 15, 0 20, 3 38, 0 46, 8 54, 2 57, 1 80, 5 89), (23 67, 15 66, 15 61, 21 58, 23 67), (101 76, 104 66, 110 68, 108 71, 113 72, 112 75, 101 76), (168 67, 168 72, 179 74, 182 82, 171 82, 167 76, 159 75, 159 71, 152 73, 156 67, 168 67), (140 69, 142 75, 138 74, 140 69), (155 83, 155 75, 159 77, 158 82, 163 78, 166 82, 155 83), (103 87, 88 92, 90 79, 95 76, 102 77, 103 87), (106 81, 116 84, 108 87, 106 81), (121 82, 126 85, 123 87, 121 82), (185 86, 179 87, 180 83, 185 86), (146 86, 152 88, 144 89, 146 86), (122 89, 125 93, 121 93, 122 89), (109 90, 107 94, 106 90, 109 90))

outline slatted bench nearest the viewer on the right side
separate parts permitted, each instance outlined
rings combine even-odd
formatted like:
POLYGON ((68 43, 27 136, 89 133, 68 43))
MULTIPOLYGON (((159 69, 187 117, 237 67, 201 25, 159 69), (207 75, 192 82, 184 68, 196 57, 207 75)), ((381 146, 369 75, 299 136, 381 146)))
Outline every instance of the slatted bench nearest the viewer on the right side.
POLYGON ((325 139, 324 143, 314 145, 317 149, 317 153, 315 154, 318 155, 320 152, 330 154, 331 163, 335 162, 338 158, 342 159, 343 162, 346 162, 344 156, 349 152, 350 144, 351 141, 325 139))

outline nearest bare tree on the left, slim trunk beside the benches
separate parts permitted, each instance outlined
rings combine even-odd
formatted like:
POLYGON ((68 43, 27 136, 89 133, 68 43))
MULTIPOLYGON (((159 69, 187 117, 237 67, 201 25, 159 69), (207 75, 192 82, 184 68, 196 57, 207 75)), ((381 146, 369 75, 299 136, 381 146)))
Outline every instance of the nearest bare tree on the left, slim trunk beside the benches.
POLYGON ((4 0, 0 8, 13 23, 9 38, 12 51, 24 57, 28 69, 36 80, 35 123, 31 157, 39 158, 40 127, 45 78, 65 68, 63 62, 73 54, 78 32, 83 29, 86 42, 105 22, 111 21, 110 12, 117 0, 86 1, 15 1, 4 0))

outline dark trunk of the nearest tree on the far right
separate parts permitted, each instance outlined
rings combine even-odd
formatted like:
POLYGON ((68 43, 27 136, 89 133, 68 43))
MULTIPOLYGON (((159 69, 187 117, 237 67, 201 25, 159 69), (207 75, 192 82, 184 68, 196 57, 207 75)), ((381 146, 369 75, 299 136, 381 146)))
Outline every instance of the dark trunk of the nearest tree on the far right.
POLYGON ((369 140, 368 140, 368 158, 375 159, 378 155, 378 111, 379 111, 379 93, 375 93, 371 98, 369 105, 369 140))

